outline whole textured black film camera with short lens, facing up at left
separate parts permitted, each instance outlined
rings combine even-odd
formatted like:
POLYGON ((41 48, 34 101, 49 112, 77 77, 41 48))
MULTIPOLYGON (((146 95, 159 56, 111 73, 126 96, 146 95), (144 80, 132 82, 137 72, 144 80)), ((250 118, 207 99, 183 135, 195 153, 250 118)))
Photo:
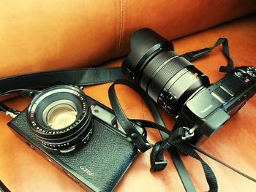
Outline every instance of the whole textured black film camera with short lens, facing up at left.
POLYGON ((70 85, 39 92, 8 125, 87 191, 113 191, 138 155, 113 111, 70 85))

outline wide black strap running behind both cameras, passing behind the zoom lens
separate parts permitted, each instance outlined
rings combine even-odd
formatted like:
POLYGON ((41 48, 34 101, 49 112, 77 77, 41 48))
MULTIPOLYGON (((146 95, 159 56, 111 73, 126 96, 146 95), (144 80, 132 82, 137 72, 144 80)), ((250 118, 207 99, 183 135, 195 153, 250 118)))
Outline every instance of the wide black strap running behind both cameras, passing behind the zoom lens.
MULTIPOLYGON (((194 61, 208 53, 211 53, 218 45, 222 45, 222 52, 227 58, 227 66, 221 66, 220 72, 229 72, 234 69, 230 58, 228 42, 226 38, 219 38, 213 47, 185 53, 181 56, 188 61, 194 61)), ((53 85, 97 85, 105 82, 113 82, 124 78, 121 67, 86 67, 79 69, 63 69, 46 72, 19 74, 0 79, 0 96, 5 92, 17 89, 42 89, 53 85)))

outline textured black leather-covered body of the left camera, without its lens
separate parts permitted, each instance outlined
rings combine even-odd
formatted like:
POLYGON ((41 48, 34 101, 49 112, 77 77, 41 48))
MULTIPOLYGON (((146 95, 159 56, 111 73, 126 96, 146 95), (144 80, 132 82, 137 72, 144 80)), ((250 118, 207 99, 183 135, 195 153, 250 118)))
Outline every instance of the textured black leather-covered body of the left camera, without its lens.
MULTIPOLYGON (((89 98, 89 101, 104 107, 105 111, 112 111, 93 99, 89 98)), ((86 191, 113 191, 138 155, 137 147, 127 141, 124 135, 95 116, 94 132, 89 142, 75 153, 67 155, 53 155, 42 147, 29 128, 26 110, 20 112, 8 126, 33 150, 47 158, 86 191)))

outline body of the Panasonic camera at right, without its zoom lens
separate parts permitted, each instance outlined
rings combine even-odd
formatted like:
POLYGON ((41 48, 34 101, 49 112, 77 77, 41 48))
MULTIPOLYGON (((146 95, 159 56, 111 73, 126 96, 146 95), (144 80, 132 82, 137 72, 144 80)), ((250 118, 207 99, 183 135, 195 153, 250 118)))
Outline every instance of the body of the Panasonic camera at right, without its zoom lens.
MULTIPOLYGON (((195 135, 188 139, 200 145, 236 114, 255 92, 255 67, 237 67, 218 82, 192 95, 176 117, 174 128, 195 127, 195 135)), ((167 94, 163 96, 170 98, 167 94)), ((163 107, 166 108, 166 104, 163 107)))

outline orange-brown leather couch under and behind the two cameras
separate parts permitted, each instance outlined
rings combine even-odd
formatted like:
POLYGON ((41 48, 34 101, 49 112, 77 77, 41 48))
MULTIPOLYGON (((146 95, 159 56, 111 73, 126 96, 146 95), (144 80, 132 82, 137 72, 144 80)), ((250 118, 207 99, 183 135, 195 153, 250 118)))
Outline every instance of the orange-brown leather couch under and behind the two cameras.
MULTIPOLYGON (((256 66, 256 1, 4 1, 0 5, 0 77, 50 69, 82 66, 120 66, 129 52, 129 34, 153 28, 173 39, 177 53, 210 47, 227 37, 236 66, 256 66), (108 61, 108 62, 107 62, 108 61)), ((226 64, 218 47, 194 62, 211 82, 223 74, 226 64)), ((108 87, 90 86, 86 94, 110 107, 108 87), (100 92, 100 94, 99 94, 100 92)), ((129 118, 152 120, 148 109, 133 91, 118 86, 118 96, 129 118)), ((6 101, 18 110, 29 99, 6 101)), ((174 119, 162 112, 168 128, 174 119)), ((201 147, 256 177, 256 97, 231 118, 201 147)), ((83 191, 74 181, 34 153, 6 126, 10 117, 0 115, 0 180, 11 191, 83 191)), ((157 142, 157 131, 148 130, 157 142)), ((184 191, 168 154, 162 172, 149 172, 150 152, 138 155, 116 191, 184 191)), ((219 191, 256 191, 256 184, 206 157, 219 181, 219 191)), ((200 163, 182 156, 197 191, 208 189, 200 163)))

